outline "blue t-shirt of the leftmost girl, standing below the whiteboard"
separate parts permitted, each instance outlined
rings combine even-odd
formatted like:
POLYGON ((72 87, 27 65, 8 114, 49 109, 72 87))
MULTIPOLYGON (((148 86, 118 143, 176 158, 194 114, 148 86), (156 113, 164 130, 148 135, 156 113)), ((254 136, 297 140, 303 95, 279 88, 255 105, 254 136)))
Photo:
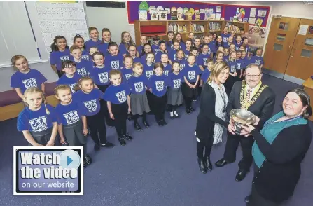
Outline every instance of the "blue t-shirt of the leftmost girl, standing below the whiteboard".
POLYGON ((24 94, 28 88, 41 88, 41 84, 45 81, 47 81, 46 77, 36 69, 29 69, 26 74, 16 71, 11 76, 11 88, 20 88, 22 94, 24 94))

